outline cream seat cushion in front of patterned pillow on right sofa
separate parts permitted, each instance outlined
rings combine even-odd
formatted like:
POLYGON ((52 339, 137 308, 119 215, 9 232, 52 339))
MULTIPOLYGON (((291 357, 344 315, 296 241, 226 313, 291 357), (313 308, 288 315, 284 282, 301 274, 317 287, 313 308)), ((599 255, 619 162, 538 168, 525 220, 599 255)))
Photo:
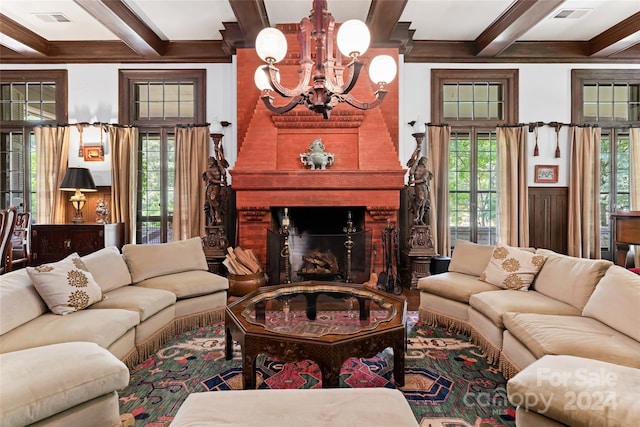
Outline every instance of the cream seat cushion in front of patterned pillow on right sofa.
POLYGON ((500 328, 504 328, 502 315, 508 312, 580 315, 580 310, 574 306, 554 300, 536 291, 481 292, 471 295, 469 305, 500 328))

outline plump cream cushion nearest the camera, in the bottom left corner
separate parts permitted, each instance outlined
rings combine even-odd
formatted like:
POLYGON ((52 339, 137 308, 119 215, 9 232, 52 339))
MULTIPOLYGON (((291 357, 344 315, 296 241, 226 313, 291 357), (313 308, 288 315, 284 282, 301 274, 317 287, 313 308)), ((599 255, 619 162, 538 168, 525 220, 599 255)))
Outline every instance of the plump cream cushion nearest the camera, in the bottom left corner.
POLYGON ((1 354, 0 377, 0 424, 9 427, 31 425, 122 389, 129 370, 94 343, 68 342, 1 354))

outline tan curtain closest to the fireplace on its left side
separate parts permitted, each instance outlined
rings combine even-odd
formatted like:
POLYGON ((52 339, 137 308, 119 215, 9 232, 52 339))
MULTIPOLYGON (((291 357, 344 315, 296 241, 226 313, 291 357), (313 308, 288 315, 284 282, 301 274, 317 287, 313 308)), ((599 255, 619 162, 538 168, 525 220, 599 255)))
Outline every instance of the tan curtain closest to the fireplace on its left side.
POLYGON ((204 230, 205 183, 209 128, 176 128, 176 172, 173 204, 173 240, 200 236, 204 230))

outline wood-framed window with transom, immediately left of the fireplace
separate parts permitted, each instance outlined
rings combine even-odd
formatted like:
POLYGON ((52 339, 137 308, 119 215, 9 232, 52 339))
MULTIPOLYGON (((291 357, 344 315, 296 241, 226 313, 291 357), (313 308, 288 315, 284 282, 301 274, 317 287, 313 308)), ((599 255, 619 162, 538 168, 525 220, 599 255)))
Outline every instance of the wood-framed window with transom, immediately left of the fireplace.
POLYGON ((174 128, 205 121, 204 70, 121 70, 120 121, 139 129, 139 243, 172 238, 174 128))

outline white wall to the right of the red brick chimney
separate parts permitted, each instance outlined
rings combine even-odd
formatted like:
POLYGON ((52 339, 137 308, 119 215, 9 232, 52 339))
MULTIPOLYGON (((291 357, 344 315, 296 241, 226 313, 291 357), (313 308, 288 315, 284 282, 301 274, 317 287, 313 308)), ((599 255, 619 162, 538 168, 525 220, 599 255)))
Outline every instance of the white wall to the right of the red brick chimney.
MULTIPOLYGON (((400 161, 406 164, 415 148, 408 122, 418 116, 425 122, 431 118, 431 70, 434 68, 502 69, 519 70, 520 123, 571 122, 571 70, 577 68, 640 69, 637 64, 404 64, 400 67, 400 161)), ((556 133, 552 127, 543 126, 538 132, 539 156, 533 156, 535 140, 529 136, 529 186, 566 187, 569 179, 568 128, 560 130, 560 158, 555 158, 556 133), (533 180, 535 165, 559 165, 557 184, 540 184, 533 180)), ((424 152, 424 151, 423 151, 424 152)))

